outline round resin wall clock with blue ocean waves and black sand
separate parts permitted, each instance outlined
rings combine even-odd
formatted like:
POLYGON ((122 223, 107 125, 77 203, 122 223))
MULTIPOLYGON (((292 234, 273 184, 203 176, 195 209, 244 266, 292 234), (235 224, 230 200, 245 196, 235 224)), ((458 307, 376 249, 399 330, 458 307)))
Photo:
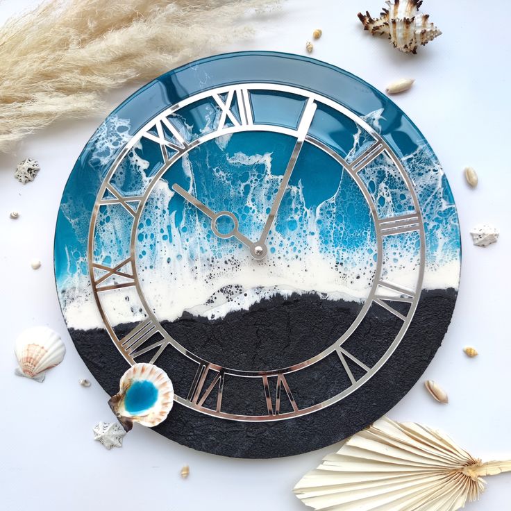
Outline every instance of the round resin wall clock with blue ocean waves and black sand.
POLYGON ((244 458, 364 428, 451 319, 460 233, 430 146, 385 95, 284 53, 206 58, 112 112, 65 188, 58 293, 108 394, 164 369, 154 428, 244 458))

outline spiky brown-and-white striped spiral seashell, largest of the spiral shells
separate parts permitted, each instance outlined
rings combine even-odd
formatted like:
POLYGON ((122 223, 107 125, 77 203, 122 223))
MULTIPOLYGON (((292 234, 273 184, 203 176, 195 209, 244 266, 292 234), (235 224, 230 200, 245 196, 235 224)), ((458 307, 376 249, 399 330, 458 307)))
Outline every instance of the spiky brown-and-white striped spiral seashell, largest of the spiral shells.
POLYGON ((386 35, 394 48, 405 53, 417 53, 419 44, 427 44, 442 35, 429 15, 418 12, 422 0, 387 0, 388 9, 383 9, 380 17, 373 19, 369 11, 358 13, 364 29, 372 35, 386 35))

